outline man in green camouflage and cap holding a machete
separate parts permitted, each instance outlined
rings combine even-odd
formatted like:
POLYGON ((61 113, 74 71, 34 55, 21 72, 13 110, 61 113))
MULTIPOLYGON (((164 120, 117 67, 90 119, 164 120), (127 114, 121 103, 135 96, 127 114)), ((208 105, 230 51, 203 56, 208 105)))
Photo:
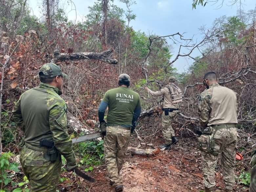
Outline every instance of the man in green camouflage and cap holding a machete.
POLYGON ((30 181, 31 192, 55 192, 61 171, 61 155, 67 160, 66 169, 76 167, 72 140, 67 129, 67 106, 61 95, 63 78, 67 75, 53 63, 39 70, 40 85, 23 93, 15 103, 13 119, 24 131, 20 162, 30 181), (49 148, 41 146, 46 139, 54 142, 55 159, 49 148), (50 160, 51 159, 51 160, 50 160))

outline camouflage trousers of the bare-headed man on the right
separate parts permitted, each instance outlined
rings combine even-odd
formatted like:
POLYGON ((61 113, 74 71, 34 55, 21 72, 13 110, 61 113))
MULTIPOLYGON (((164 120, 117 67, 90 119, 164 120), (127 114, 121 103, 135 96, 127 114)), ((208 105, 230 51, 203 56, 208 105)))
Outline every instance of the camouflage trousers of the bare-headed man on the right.
MULTIPOLYGON (((213 131, 214 133, 214 131, 213 131)), ((235 183, 235 157, 237 144, 236 127, 218 130, 214 137, 214 153, 221 155, 223 180, 226 189, 232 190, 235 183)), ((215 186, 215 167, 218 155, 202 152, 203 159, 203 185, 206 188, 215 186)))

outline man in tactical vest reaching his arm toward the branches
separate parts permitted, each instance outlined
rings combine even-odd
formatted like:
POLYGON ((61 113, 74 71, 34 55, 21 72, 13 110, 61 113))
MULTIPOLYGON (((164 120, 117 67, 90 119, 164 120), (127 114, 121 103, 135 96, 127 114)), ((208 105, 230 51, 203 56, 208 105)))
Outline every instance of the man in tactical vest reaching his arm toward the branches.
POLYGON ((168 84, 160 91, 151 91, 145 88, 152 96, 163 96, 163 114, 162 114, 162 133, 166 144, 160 145, 160 148, 170 149, 172 144, 177 143, 175 132, 172 127, 173 118, 178 114, 178 102, 182 101, 181 89, 175 84, 176 78, 171 76, 168 78, 168 84))

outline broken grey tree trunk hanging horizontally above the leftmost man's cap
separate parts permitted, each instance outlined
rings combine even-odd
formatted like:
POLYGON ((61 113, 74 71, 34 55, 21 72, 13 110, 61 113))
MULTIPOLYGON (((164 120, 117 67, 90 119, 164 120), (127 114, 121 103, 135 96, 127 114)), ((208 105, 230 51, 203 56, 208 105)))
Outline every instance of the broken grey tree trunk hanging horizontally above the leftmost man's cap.
POLYGON ((94 52, 83 52, 83 53, 59 53, 58 50, 54 51, 53 54, 53 62, 57 63, 58 61, 78 61, 83 59, 95 59, 100 60, 104 63, 109 63, 116 65, 117 59, 109 58, 109 55, 113 52, 113 50, 107 50, 101 53, 94 52))

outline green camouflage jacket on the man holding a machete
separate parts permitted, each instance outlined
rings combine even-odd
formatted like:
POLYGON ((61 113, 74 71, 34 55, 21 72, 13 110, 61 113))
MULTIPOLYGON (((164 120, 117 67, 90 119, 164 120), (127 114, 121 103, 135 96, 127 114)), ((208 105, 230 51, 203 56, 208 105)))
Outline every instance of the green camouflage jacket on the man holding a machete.
POLYGON ((27 147, 38 150, 41 139, 54 141, 59 153, 74 162, 67 129, 67 105, 59 95, 58 88, 40 83, 20 96, 13 109, 13 120, 24 131, 27 147))

